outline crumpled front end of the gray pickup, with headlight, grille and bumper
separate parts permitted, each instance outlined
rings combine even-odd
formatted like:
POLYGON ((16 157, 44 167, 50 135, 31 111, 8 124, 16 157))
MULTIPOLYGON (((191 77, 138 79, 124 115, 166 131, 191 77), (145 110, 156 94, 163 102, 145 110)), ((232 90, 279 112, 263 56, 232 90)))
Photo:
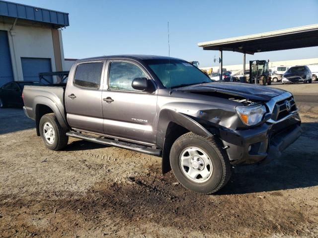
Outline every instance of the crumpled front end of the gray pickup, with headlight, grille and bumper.
POLYGON ((227 107, 200 110, 195 115, 200 124, 205 124, 222 140, 232 164, 253 164, 278 158, 302 133, 298 109, 289 92, 267 101, 216 91, 191 93, 233 102, 227 107))

